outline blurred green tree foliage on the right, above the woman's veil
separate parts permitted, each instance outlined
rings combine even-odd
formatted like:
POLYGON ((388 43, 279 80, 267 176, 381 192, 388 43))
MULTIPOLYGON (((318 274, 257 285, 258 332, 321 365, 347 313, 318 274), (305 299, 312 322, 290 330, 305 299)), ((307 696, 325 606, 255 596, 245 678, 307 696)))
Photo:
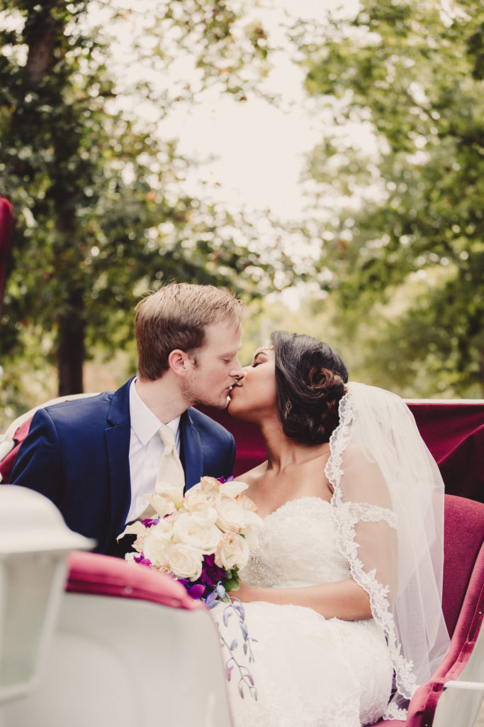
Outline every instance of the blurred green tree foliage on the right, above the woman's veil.
POLYGON ((308 32, 298 32, 306 87, 337 124, 310 172, 320 207, 347 201, 323 233, 328 287, 379 331, 375 366, 391 361, 402 385, 425 371, 434 393, 479 395, 483 5, 366 0, 354 20, 308 32), (347 134, 354 122, 360 140, 347 134), (382 308, 395 296, 400 305, 382 308))

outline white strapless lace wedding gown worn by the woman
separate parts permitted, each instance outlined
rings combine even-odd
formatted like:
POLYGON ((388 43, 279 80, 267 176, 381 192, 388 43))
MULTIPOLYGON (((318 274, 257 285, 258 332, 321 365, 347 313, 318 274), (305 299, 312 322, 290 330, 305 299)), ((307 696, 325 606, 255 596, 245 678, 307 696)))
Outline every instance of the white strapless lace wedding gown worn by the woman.
MULTIPOLYGON (((255 587, 303 587, 346 579, 348 563, 336 546, 332 508, 317 497, 286 502, 265 518, 259 546, 241 577, 255 587)), ((234 593, 236 595, 236 593, 234 593)), ((220 620, 223 606, 213 609, 220 620)), ((235 727, 361 727, 385 711, 393 670, 382 630, 373 619, 325 619, 312 608, 245 603, 255 661, 242 653, 238 624, 219 624, 237 639, 239 663, 255 680, 258 699, 228 683, 235 727)), ((225 654, 224 654, 225 656, 225 654)))

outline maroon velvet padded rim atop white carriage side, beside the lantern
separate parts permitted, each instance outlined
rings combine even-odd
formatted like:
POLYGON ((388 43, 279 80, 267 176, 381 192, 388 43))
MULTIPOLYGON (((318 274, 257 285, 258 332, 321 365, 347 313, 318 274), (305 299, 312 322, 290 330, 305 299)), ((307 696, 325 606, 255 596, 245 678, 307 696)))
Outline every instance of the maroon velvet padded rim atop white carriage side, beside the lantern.
POLYGON ((194 601, 185 588, 170 576, 99 553, 71 553, 65 590, 137 598, 189 611, 205 608, 202 601, 194 601))

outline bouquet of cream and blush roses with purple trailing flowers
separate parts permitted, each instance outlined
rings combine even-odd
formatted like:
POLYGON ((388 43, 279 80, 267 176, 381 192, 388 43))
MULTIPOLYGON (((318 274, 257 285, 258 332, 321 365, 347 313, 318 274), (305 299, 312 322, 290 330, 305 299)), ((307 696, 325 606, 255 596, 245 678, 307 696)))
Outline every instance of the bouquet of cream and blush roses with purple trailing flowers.
MULTIPOLYGON (((156 494, 144 495, 152 505, 150 518, 128 525, 123 534, 135 534, 134 553, 126 560, 141 563, 166 573, 179 581, 193 598, 203 598, 209 608, 226 602, 223 624, 229 616, 239 621, 244 654, 253 661, 242 603, 228 591, 239 587, 239 570, 257 545, 254 526, 261 523, 257 507, 242 494, 247 485, 233 479, 222 482, 202 477, 186 494, 182 488, 169 486, 156 494)), ((257 699, 254 681, 247 667, 235 659, 237 640, 221 642, 229 651, 226 674, 230 680, 234 667, 239 670, 239 693, 243 687, 257 699)))

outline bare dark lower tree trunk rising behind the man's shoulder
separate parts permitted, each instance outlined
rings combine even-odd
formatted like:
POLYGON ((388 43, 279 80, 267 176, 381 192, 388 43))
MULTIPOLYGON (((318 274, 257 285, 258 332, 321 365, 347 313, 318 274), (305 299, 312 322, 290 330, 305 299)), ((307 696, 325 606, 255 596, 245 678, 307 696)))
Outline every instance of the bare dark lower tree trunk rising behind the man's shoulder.
POLYGON ((59 321, 57 369, 59 395, 83 392, 84 302, 80 290, 70 293, 67 310, 59 321))

